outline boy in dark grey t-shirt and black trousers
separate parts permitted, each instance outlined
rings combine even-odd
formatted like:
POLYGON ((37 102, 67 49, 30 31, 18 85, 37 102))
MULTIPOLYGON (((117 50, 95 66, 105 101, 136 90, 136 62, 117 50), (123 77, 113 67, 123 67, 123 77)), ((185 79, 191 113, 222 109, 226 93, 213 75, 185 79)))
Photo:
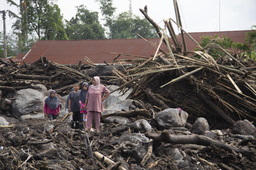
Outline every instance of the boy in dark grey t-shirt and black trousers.
POLYGON ((79 95, 81 92, 81 90, 79 90, 80 84, 75 83, 73 88, 74 88, 74 91, 71 91, 69 94, 69 111, 74 113, 73 114, 73 121, 75 122, 74 129, 79 129, 79 123, 82 122, 83 120, 80 113, 80 104, 79 104, 79 95))

